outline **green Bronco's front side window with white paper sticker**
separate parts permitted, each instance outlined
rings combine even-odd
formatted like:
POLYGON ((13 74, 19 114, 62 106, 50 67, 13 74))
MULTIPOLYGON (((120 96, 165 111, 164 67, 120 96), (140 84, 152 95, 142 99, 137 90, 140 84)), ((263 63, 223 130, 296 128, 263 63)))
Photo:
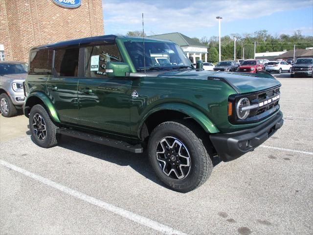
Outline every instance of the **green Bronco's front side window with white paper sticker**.
POLYGON ((85 47, 85 76, 103 77, 107 62, 121 62, 122 57, 115 44, 85 47))

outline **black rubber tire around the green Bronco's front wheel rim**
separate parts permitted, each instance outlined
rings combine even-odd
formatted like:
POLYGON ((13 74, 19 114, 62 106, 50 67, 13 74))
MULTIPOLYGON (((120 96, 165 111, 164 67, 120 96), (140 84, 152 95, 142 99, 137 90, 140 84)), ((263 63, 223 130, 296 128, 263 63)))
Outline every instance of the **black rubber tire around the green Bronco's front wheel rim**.
POLYGON ((185 120, 167 121, 156 126, 149 139, 148 154, 158 178, 169 188, 179 192, 189 192, 200 187, 209 178, 213 169, 211 151, 210 148, 206 148, 207 140, 208 136, 204 135, 201 128, 185 120), (165 137, 177 138, 188 149, 190 170, 183 179, 167 176, 156 158, 159 141, 165 137))

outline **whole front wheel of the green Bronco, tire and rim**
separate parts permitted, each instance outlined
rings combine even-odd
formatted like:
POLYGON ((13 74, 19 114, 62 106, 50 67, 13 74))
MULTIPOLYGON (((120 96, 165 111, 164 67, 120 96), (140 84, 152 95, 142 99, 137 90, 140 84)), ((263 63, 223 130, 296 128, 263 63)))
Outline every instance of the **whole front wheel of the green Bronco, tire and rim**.
POLYGON ((198 188, 212 172, 213 164, 201 133, 201 129, 191 123, 168 121, 158 125, 151 134, 150 163, 159 179, 176 191, 198 188))

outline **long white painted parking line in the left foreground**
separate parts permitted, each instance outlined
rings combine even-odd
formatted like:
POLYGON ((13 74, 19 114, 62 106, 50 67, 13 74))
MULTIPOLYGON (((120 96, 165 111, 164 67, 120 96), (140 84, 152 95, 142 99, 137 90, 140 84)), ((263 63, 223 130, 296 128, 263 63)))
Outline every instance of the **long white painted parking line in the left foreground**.
POLYGON ((101 200, 98 200, 94 197, 90 197, 84 193, 81 193, 79 191, 76 191, 74 189, 71 189, 71 188, 67 188, 66 186, 63 186, 63 185, 60 185, 58 183, 55 183, 51 180, 48 180, 42 176, 39 176, 39 175, 36 175, 30 171, 27 171, 25 169, 22 169, 16 165, 13 165, 13 164, 10 164, 10 163, 7 163, 3 160, 0 160, 0 164, 7 167, 7 168, 10 168, 12 170, 15 170, 17 172, 20 172, 22 173, 23 175, 26 175, 34 180, 37 180, 37 181, 40 181, 42 183, 44 183, 45 185, 47 186, 50 186, 50 187, 53 187, 53 188, 56 188, 56 189, 59 189, 60 191, 62 192, 65 192, 69 195, 72 195, 74 197, 77 197, 85 202, 89 202, 90 204, 93 204, 95 206, 98 206, 98 207, 101 207, 107 211, 111 211, 113 213, 116 213, 116 214, 119 214, 125 218, 128 218, 130 220, 133 220, 134 222, 136 223, 139 223, 139 224, 142 224, 144 226, 147 226, 147 227, 150 227, 156 231, 159 231, 163 234, 168 234, 168 235, 186 235, 178 230, 175 230, 171 227, 168 227, 166 225, 163 225, 163 224, 160 224, 154 220, 151 220, 151 219, 148 219, 146 217, 143 217, 141 215, 138 215, 138 214, 135 214, 131 211, 126 211, 122 208, 119 208, 119 207, 116 207, 116 206, 113 206, 109 203, 106 203, 104 201, 101 201, 101 200))

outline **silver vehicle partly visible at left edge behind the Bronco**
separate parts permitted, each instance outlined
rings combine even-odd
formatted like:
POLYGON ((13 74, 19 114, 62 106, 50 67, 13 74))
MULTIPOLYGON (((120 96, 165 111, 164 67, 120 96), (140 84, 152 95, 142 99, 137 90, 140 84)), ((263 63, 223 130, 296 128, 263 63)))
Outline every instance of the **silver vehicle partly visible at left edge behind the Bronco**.
POLYGON ((3 117, 13 117, 25 101, 23 82, 27 64, 0 61, 0 111, 3 117))

